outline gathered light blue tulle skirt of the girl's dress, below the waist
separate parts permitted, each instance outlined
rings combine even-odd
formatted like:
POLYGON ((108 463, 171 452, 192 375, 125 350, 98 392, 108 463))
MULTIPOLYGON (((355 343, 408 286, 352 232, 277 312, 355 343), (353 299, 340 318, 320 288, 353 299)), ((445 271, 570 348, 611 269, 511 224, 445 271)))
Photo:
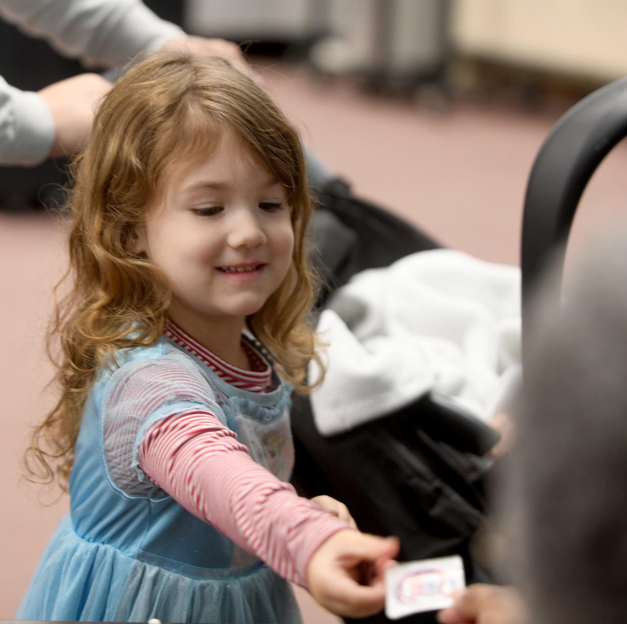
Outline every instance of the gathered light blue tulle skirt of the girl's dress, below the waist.
POLYGON ((80 538, 65 517, 19 606, 18 620, 301 621, 289 583, 255 563, 190 578, 80 538))

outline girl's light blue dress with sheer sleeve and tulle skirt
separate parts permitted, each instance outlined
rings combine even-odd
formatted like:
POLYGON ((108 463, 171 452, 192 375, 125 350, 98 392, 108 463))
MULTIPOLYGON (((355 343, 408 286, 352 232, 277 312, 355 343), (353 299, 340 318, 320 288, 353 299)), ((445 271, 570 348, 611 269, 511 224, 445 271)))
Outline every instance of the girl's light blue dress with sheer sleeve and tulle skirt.
POLYGON ((154 422, 199 408, 216 414, 253 459, 285 481, 293 462, 289 385, 274 373, 271 392, 235 388, 166 336, 119 351, 116 360, 119 368, 103 370, 88 396, 70 514, 51 538, 16 618, 300 622, 287 581, 167 496, 137 461, 154 422), (134 380, 172 370, 176 375, 161 375, 171 382, 155 382, 168 398, 149 417, 139 403, 120 399, 137 394, 128 392, 134 380), (181 387, 181 377, 190 376, 202 392, 181 387))

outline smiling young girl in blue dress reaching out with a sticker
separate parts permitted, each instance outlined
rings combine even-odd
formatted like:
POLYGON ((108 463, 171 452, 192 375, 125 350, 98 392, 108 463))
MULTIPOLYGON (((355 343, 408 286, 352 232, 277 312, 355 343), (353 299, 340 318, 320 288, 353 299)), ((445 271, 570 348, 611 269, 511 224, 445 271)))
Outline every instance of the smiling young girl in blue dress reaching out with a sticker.
POLYGON ((394 539, 285 482, 306 391, 310 216, 297 134, 224 61, 159 55, 108 93, 75 165, 61 399, 31 459, 70 508, 26 620, 295 622, 384 603, 394 539))

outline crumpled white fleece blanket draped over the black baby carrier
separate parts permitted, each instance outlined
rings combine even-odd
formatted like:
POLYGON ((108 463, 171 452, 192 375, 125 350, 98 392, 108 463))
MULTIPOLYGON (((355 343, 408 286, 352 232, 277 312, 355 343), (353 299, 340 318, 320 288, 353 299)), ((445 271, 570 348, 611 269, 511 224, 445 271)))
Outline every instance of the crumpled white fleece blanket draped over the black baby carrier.
MULTIPOLYGON (((317 332, 327 375, 311 400, 322 435, 431 390, 487 420, 520 367, 520 271, 448 249, 411 254, 354 276, 317 332)), ((313 362, 309 373, 319 375, 313 362)))

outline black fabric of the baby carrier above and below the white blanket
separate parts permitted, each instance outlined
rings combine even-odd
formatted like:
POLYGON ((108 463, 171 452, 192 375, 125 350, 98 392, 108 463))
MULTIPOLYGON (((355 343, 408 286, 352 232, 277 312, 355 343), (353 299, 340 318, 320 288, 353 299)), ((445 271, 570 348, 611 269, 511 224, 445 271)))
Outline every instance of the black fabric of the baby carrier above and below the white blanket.
MULTIPOLYGON (((438 243, 384 209, 355 197, 342 180, 319 193, 314 264, 326 281, 320 306, 352 275, 385 267, 438 243)), ((344 502, 362 531, 396 535, 400 561, 460 554, 468 582, 488 581, 470 554, 485 520, 480 455, 498 435, 443 397, 427 395, 340 435, 315 427, 310 401, 294 397, 296 464, 292 482, 302 496, 328 494, 344 502)), ((361 620, 387 623, 383 613, 361 620)), ((435 613, 405 618, 435 623, 435 613)))

